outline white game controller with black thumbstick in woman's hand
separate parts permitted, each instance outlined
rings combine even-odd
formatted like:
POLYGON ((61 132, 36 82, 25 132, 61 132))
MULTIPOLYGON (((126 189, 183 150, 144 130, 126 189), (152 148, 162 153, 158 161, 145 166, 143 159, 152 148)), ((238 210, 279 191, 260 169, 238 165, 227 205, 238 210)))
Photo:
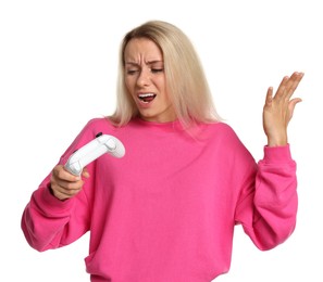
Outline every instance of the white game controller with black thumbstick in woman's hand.
POLYGON ((76 150, 67 159, 65 168, 73 175, 79 176, 83 168, 100 157, 104 153, 109 153, 115 157, 123 157, 125 149, 122 142, 113 136, 98 133, 96 138, 76 150))

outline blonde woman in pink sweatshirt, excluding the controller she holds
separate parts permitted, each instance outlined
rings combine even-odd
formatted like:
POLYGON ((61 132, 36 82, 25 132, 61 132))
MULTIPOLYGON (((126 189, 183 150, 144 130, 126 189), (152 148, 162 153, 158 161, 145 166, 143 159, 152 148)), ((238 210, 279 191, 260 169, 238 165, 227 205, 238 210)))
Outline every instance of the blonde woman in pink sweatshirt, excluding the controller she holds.
POLYGON ((86 269, 91 281, 210 282, 229 270, 234 227, 259 249, 293 233, 296 163, 287 126, 303 74, 269 88, 263 159, 256 163, 216 113, 189 39, 151 21, 121 46, 117 106, 94 118, 33 193, 22 229, 42 252, 90 231, 86 269), (82 177, 69 156, 98 132, 120 139, 122 158, 105 154, 82 177))

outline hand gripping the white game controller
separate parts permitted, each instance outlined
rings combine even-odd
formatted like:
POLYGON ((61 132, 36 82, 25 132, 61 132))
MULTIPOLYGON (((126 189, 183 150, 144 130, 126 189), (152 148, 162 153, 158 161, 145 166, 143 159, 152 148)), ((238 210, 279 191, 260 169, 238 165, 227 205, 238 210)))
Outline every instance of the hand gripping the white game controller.
MULTIPOLYGON (((82 177, 89 178, 86 168, 83 169, 82 177)), ((50 178, 52 194, 61 201, 75 196, 83 189, 84 180, 82 177, 72 175, 63 165, 57 165, 52 169, 50 178)))

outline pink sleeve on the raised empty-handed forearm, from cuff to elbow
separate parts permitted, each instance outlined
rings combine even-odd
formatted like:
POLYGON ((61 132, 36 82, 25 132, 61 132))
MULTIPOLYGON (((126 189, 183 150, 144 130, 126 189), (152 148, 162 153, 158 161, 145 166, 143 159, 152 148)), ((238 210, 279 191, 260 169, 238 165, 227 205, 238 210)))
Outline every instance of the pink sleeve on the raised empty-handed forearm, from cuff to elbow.
POLYGON ((293 233, 297 206, 296 163, 291 159, 289 145, 264 146, 256 180, 252 174, 247 176, 236 221, 243 225, 257 247, 270 249, 293 233))

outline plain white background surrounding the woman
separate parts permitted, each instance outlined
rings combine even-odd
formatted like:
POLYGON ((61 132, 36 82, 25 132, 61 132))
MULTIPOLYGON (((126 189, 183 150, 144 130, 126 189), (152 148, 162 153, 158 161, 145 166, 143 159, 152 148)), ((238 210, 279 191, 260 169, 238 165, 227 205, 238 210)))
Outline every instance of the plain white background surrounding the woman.
POLYGON ((261 113, 268 87, 275 90, 283 76, 305 72, 295 94, 303 101, 289 125, 299 181, 295 233, 260 252, 237 227, 231 271, 216 281, 323 281, 320 2, 1 1, 0 280, 89 281, 83 260, 88 235, 38 253, 23 236, 21 215, 85 123, 113 112, 123 35, 163 20, 191 38, 220 114, 256 159, 265 144, 261 113))

